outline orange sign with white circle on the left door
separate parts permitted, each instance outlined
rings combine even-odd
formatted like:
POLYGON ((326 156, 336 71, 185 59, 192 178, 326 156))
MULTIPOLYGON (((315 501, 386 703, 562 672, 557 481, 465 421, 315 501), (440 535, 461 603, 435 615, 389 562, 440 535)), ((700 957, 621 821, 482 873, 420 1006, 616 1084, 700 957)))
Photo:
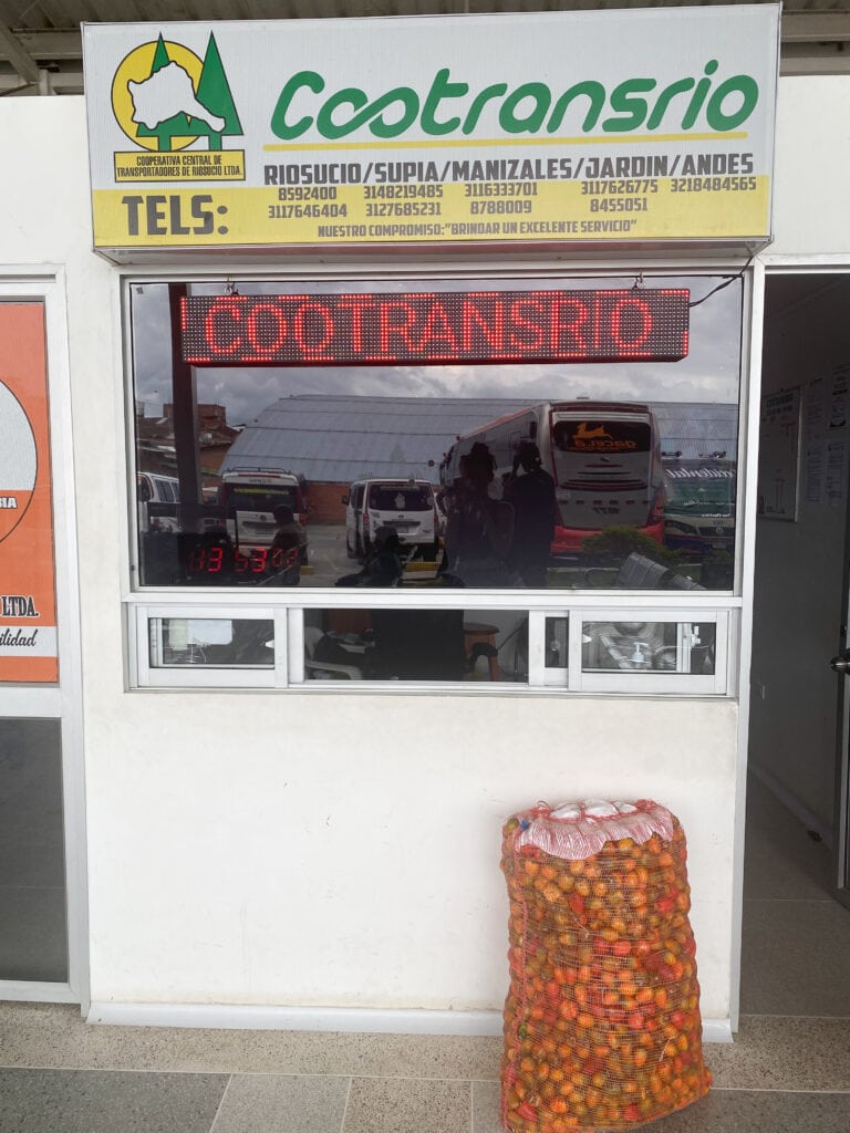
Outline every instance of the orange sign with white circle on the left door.
POLYGON ((58 676, 44 307, 0 303, 0 681, 58 676))

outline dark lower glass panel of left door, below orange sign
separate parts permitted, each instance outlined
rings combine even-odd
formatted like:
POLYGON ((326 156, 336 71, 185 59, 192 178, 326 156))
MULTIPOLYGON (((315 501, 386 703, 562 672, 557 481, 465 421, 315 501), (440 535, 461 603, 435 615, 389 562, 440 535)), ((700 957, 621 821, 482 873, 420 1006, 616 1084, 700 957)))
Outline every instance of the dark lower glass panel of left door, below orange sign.
POLYGON ((59 721, 0 719, 0 980, 68 980, 59 721))

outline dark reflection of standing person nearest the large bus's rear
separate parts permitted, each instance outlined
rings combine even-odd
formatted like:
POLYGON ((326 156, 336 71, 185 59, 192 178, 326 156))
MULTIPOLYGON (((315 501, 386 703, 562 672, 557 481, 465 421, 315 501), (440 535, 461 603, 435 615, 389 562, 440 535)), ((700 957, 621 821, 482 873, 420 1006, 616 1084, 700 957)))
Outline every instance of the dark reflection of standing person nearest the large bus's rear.
POLYGON ((534 442, 520 444, 503 499, 513 508, 513 540, 508 561, 525 586, 544 589, 558 504, 555 482, 543 467, 534 442))

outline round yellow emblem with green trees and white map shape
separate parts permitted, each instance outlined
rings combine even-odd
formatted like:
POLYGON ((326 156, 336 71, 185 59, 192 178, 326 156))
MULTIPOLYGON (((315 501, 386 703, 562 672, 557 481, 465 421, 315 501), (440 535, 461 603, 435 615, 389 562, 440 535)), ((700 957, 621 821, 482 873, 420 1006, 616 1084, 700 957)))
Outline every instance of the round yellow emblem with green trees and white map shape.
POLYGON ((112 79, 112 112, 130 142, 160 153, 185 150, 202 137, 218 151, 223 138, 243 136, 212 34, 203 59, 162 35, 134 48, 112 79))

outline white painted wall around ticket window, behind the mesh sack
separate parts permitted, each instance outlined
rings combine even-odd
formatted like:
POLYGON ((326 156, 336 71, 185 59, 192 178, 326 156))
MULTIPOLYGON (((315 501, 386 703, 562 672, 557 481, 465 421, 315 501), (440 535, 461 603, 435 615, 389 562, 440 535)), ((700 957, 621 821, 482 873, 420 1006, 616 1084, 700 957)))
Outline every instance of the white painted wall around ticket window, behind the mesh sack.
MULTIPOLYGON (((808 80, 789 82, 794 134, 808 80)), ((782 168, 805 179, 799 144, 782 168)), ((118 287, 90 252, 85 146, 79 100, 0 104, 2 258, 68 283, 93 999, 500 1011, 502 820, 614 795, 682 821, 703 1015, 728 1019, 736 704, 125 691, 118 287)), ((777 246, 815 239, 806 191, 777 189, 777 246)))

